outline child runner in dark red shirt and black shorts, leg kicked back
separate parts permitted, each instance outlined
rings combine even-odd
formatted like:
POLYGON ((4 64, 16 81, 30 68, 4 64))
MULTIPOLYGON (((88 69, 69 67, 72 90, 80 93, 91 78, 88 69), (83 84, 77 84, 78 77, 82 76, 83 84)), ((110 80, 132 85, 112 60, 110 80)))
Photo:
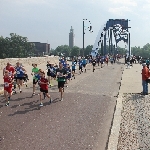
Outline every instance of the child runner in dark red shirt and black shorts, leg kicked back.
POLYGON ((40 106, 43 106, 43 102, 42 102, 42 94, 45 96, 47 96, 50 99, 50 103, 52 102, 52 99, 50 97, 50 95, 48 95, 48 80, 45 78, 45 72, 44 71, 40 71, 40 81, 39 81, 39 85, 40 85, 40 106))

